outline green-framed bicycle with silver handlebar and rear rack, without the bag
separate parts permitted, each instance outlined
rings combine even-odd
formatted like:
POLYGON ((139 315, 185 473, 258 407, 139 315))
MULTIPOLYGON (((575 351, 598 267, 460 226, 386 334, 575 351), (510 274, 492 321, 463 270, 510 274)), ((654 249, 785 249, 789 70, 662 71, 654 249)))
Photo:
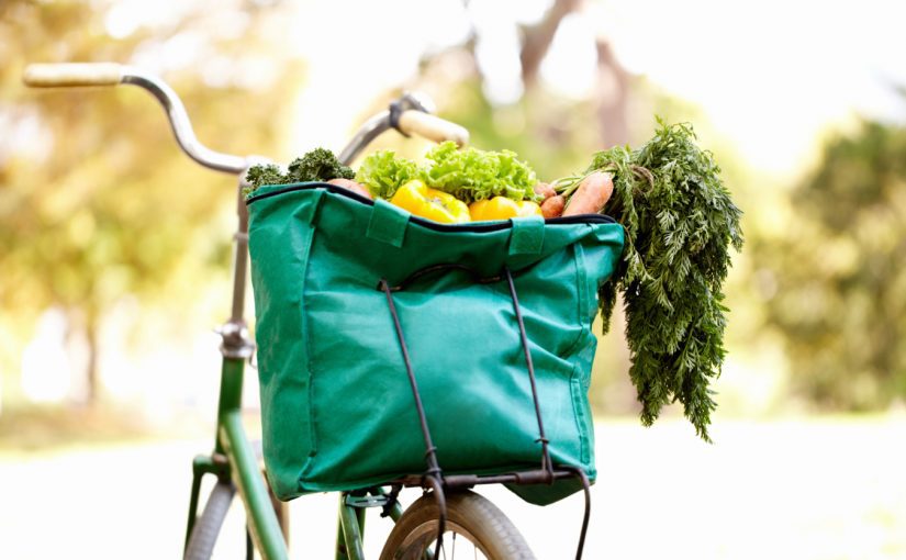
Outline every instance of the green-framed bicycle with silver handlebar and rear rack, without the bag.
MULTIPOLYGON (((37 88, 118 85, 139 87, 153 94, 165 109, 175 139, 182 152, 203 167, 238 176, 238 226, 234 236, 232 309, 230 318, 217 329, 222 339, 220 351, 223 362, 216 435, 213 452, 200 455, 192 462, 193 478, 184 558, 198 560, 211 557, 226 512, 236 493, 246 512, 247 557, 251 558, 253 550, 257 550, 266 559, 287 558, 286 504, 276 499, 266 478, 261 475, 259 456, 254 450, 239 416, 245 366, 251 360, 256 349, 244 317, 248 267, 248 213, 243 203, 242 191, 248 187, 245 176, 249 167, 269 161, 259 157, 222 154, 202 145, 195 137, 177 93, 166 82, 141 69, 113 63, 31 65, 26 68, 23 80, 27 86, 37 88), (214 475, 216 483, 199 513, 202 479, 206 475, 214 475)), ((371 141, 390 128, 396 128, 406 136, 416 134, 434 142, 454 141, 459 145, 467 144, 468 131, 433 115, 429 104, 425 98, 414 94, 402 96, 391 103, 387 111, 365 122, 340 152, 340 161, 348 165, 371 141)), ((535 406, 537 410, 537 399, 535 406)), ((421 414, 424 418, 424 413, 421 414)), ((541 436, 544 439, 544 430, 541 436)), ((429 445, 428 447, 430 448, 429 445)), ((547 461, 548 469, 543 471, 492 477, 460 474, 445 477, 443 480, 412 475, 365 491, 343 492, 336 558, 363 558, 363 520, 365 509, 368 507, 381 507, 382 515, 395 523, 384 544, 382 560, 454 558, 457 542, 462 540, 470 545, 472 556, 469 558, 477 558, 479 552, 485 558, 501 560, 534 558, 510 519, 490 501, 469 489, 476 484, 541 483, 555 478, 577 475, 582 481, 585 492, 585 515, 578 549, 578 557, 581 558, 590 513, 589 482, 581 471, 555 470, 549 458, 547 461), (390 490, 385 490, 387 488, 390 490), (403 488, 425 490, 425 495, 405 512, 396 500, 403 488), (452 544, 451 551, 446 549, 444 541, 452 544)), ((460 550, 462 546, 465 544, 460 546, 460 550)))

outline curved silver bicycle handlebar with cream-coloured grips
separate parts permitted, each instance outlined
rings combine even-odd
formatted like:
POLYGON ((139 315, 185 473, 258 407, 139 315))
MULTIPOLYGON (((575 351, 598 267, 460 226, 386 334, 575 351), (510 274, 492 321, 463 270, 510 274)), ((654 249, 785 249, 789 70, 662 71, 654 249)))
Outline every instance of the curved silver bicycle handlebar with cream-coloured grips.
MULTIPOLYGON (((167 112, 177 144, 198 164, 232 175, 244 175, 260 157, 241 157, 214 152, 195 137, 192 123, 179 96, 164 80, 132 66, 115 63, 32 64, 25 68, 22 80, 32 88, 74 88, 85 86, 138 86, 150 92, 167 112)), ((390 111, 368 120, 339 155, 349 164, 372 139, 395 127, 401 133, 416 134, 433 142, 452 141, 462 146, 469 142, 469 132, 462 126, 429 114, 426 103, 409 93, 396 101, 400 109, 395 122, 390 111)))

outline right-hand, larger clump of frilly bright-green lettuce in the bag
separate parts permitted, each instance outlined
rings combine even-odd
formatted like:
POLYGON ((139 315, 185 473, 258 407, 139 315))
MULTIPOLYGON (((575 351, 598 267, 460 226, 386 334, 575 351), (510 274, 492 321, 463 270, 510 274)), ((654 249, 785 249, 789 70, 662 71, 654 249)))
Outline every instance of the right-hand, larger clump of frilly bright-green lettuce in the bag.
POLYGON ((515 201, 539 200, 533 187, 535 171, 510 150, 457 149, 452 142, 437 145, 425 155, 427 183, 470 204, 477 200, 507 197, 515 201))

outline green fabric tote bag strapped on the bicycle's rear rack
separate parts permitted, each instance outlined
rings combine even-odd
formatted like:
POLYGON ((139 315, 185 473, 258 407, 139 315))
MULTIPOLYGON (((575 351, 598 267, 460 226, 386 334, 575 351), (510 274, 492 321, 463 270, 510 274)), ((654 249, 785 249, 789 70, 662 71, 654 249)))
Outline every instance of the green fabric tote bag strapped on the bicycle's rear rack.
MULTIPOLYGON (((591 325, 620 225, 600 215, 438 224, 326 183, 267 186, 247 203, 265 463, 280 499, 425 471, 391 304, 443 472, 537 470, 506 272, 550 459, 594 479, 591 325)), ((581 485, 510 488, 546 504, 581 485)))

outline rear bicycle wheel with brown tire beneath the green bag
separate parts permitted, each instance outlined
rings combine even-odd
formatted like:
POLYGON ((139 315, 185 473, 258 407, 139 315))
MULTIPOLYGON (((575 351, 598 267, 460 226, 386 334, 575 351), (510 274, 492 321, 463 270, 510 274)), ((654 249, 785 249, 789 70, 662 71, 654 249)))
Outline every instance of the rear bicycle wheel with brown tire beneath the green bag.
MULTIPOLYGON (((446 497, 447 523, 441 559, 535 560, 513 523, 490 501, 468 491, 450 493, 446 497)), ((381 560, 432 558, 437 540, 437 518, 434 496, 420 497, 396 522, 381 551, 381 560)))

